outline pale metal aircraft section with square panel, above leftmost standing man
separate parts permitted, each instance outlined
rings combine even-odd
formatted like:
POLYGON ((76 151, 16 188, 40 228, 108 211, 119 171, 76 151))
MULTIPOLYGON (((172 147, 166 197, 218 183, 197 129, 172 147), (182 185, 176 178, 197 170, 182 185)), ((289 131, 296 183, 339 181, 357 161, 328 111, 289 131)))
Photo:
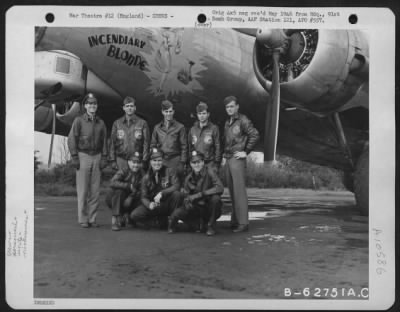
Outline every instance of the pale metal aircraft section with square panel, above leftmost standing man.
POLYGON ((46 129, 52 121, 51 104, 58 119, 72 124, 81 112, 76 105, 85 93, 93 92, 99 106, 121 103, 121 96, 72 53, 60 50, 35 52, 35 130, 46 129))

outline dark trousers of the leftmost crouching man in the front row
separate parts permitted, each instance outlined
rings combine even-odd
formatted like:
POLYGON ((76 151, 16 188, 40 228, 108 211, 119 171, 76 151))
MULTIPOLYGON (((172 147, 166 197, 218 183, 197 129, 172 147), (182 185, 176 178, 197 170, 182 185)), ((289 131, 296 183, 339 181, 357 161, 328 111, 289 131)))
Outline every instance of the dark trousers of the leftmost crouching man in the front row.
POLYGON ((111 189, 106 195, 106 204, 111 209, 113 216, 130 214, 141 204, 140 198, 130 196, 129 191, 111 189))

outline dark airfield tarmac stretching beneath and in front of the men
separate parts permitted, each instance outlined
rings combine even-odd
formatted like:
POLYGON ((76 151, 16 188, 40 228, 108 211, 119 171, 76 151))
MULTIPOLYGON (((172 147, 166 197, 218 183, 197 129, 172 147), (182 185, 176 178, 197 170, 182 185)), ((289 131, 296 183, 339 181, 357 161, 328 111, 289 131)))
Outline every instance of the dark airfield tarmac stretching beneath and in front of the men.
POLYGON ((35 298, 330 298, 368 287, 368 218, 349 192, 249 189, 250 230, 217 235, 77 224, 75 197, 35 197, 35 298), (285 296, 285 288, 302 295, 285 296), (311 293, 304 293, 310 288, 311 293), (328 288, 324 297, 315 288, 328 288), (304 296, 307 295, 308 297, 304 296), (319 295, 319 296, 318 296, 319 295))

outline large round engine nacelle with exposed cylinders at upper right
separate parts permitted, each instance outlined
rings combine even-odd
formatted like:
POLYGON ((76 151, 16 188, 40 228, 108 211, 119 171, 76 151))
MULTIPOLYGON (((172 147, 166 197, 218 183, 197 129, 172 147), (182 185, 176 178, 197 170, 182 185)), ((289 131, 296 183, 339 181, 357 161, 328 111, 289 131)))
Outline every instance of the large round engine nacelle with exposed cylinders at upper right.
MULTIPOLYGON (((344 106, 368 78, 368 41, 360 31, 290 30, 289 49, 280 58, 281 100, 316 113, 344 106)), ((256 41, 254 70, 271 92, 272 56, 256 41)), ((368 103, 363 103, 368 106, 368 103)))

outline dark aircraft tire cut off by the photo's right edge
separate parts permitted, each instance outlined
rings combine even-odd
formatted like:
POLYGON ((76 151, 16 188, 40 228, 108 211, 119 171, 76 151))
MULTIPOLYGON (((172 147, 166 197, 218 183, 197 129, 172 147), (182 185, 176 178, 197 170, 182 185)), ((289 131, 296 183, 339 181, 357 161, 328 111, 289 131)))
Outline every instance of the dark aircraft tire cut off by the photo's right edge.
POLYGON ((356 164, 354 172, 354 195, 361 215, 369 212, 369 148, 365 148, 356 164))

